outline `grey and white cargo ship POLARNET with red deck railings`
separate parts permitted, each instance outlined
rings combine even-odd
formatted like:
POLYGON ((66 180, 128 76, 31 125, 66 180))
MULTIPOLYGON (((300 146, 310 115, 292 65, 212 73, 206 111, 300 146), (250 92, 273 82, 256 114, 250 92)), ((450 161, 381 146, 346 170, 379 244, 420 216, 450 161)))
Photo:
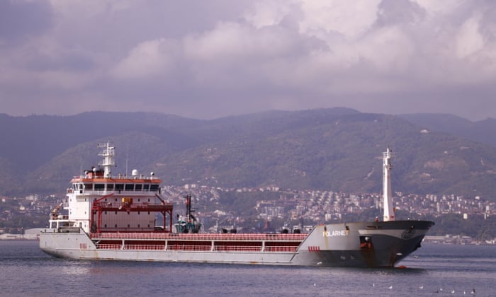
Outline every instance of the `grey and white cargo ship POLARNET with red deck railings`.
MULTIPOLYGON (((381 220, 320 224, 308 233, 203 233, 191 208, 174 223, 173 204, 162 197, 158 177, 137 170, 131 176, 112 175, 115 146, 108 141, 98 147, 103 161, 72 178, 67 202, 53 209, 49 227, 40 233, 40 249, 48 255, 81 260, 395 267, 420 247, 434 225, 395 220, 389 148, 383 153, 381 220)), ((186 206, 191 207, 191 196, 186 197, 186 206)))

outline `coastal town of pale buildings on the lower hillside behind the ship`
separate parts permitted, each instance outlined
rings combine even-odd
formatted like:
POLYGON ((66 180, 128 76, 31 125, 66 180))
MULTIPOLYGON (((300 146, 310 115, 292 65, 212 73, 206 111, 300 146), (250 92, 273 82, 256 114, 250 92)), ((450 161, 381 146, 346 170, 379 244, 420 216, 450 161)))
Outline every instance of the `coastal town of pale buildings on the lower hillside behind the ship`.
MULTIPOLYGON (((290 232, 293 228, 309 231, 318 223, 380 219, 383 207, 381 194, 288 190, 276 186, 222 188, 188 184, 165 186, 161 192, 162 197, 174 203, 177 216, 184 212, 184 195, 191 194, 204 232, 236 229, 255 233, 280 232, 284 228, 290 232)), ((478 196, 395 192, 393 201, 399 219, 429 217, 436 221, 435 218, 456 214, 463 220, 478 218, 484 221, 496 215, 496 204, 478 196)), ((29 229, 46 227, 48 214, 60 202, 64 202, 64 197, 55 194, 0 197, 0 239, 35 238, 35 232, 29 229)), ((431 233, 425 240, 433 243, 495 244, 494 239, 473 237, 463 233, 431 233)))

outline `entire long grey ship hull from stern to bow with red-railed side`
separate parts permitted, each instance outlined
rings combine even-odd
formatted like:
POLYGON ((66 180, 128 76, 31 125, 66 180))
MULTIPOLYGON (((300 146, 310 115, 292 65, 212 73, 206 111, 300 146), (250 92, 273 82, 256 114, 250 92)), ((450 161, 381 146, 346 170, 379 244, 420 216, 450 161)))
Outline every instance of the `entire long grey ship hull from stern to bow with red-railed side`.
POLYGON ((251 235, 250 239, 242 234, 225 238, 201 235, 201 239, 193 234, 178 238, 167 235, 139 241, 133 234, 114 234, 109 240, 82 230, 50 230, 40 234, 40 249, 54 257, 81 260, 394 267, 419 248, 433 224, 430 221, 326 224, 316 226, 299 240, 283 235, 251 235), (188 243, 190 248, 181 250, 178 243, 188 243), (225 250, 219 249, 220 246, 225 250))

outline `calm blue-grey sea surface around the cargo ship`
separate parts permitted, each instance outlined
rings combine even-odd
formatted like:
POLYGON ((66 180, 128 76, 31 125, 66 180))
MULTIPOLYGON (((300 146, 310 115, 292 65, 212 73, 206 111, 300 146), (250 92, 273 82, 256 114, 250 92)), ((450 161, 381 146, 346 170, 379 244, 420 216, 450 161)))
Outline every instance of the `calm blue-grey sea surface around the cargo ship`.
POLYGON ((406 269, 55 259, 0 240, 0 296, 496 296, 496 246, 424 244, 406 269))

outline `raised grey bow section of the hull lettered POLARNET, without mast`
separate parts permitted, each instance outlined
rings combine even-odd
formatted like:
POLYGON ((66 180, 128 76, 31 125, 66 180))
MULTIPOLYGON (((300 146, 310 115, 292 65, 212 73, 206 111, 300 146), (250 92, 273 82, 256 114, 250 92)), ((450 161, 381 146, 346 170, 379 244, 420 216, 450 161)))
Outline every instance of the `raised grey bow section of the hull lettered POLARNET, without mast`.
POLYGON ((389 221, 317 226, 298 249, 293 264, 394 267, 420 248, 432 225, 431 221, 389 221))

